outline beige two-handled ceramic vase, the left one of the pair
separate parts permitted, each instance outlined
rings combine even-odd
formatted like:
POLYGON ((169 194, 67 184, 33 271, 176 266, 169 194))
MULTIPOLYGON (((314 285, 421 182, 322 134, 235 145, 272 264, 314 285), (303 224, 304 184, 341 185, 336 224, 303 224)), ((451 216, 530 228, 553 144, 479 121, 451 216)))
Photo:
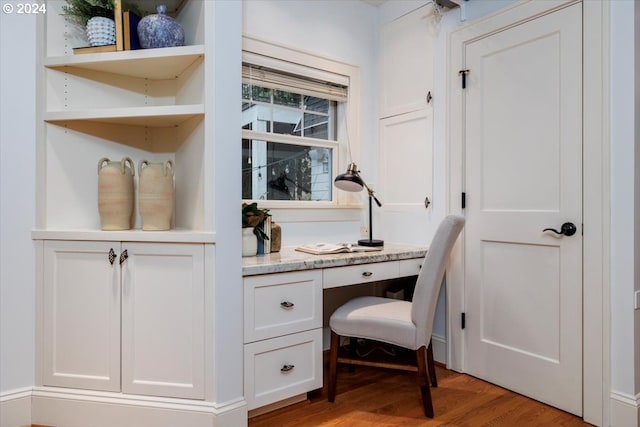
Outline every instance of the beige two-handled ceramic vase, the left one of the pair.
POLYGON ((98 161, 98 211, 103 230, 129 230, 133 217, 133 161, 98 161))

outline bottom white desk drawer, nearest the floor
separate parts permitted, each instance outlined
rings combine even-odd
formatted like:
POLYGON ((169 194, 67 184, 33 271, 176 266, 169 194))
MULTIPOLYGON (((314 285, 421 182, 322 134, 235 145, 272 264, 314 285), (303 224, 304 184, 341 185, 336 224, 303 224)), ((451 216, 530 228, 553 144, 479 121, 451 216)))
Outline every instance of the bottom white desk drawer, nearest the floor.
POLYGON ((249 410, 322 387, 322 329, 244 346, 249 410))

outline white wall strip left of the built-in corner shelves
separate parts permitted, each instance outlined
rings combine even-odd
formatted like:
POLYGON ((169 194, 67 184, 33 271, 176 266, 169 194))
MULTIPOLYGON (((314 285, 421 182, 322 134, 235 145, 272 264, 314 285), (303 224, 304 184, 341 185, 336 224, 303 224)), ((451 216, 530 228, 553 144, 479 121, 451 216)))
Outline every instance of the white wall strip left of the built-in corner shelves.
POLYGON ((0 396, 34 383, 35 37, 0 12, 0 396))

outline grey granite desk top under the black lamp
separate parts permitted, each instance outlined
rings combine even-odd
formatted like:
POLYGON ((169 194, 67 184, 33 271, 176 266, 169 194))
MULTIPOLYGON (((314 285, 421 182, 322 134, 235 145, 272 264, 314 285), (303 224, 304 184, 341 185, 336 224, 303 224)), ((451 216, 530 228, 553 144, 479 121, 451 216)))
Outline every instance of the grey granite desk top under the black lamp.
POLYGON ((287 271, 422 258, 426 253, 427 248, 425 246, 406 245, 402 243, 385 243, 384 249, 381 251, 326 255, 308 254, 296 251, 295 246, 287 246, 281 248, 280 252, 242 258, 242 275, 255 276, 257 274, 283 273, 287 271))

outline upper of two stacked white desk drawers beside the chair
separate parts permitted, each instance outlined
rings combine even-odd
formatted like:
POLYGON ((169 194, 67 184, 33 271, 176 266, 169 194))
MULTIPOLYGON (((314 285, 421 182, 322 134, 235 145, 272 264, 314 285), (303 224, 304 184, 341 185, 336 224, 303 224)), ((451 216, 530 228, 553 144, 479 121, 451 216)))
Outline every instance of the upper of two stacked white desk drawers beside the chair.
POLYGON ((321 326, 320 270, 245 277, 245 343, 321 326))

